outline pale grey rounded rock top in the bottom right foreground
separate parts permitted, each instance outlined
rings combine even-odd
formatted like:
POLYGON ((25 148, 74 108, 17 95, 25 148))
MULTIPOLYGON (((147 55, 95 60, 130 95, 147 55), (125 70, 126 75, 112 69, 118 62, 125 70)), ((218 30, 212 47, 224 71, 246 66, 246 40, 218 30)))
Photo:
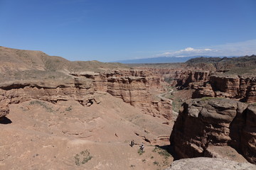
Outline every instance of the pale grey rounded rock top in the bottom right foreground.
POLYGON ((191 159, 180 159, 171 164, 165 170, 254 170, 256 166, 250 163, 238 163, 228 159, 198 157, 191 159))

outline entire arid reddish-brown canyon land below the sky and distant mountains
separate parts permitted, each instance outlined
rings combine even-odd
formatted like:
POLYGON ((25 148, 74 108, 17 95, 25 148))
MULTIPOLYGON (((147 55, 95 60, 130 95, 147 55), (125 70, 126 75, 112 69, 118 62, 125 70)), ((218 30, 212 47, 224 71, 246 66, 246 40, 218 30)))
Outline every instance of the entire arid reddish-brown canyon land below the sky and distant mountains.
POLYGON ((255 56, 124 65, 0 47, 0 61, 0 169, 256 169, 255 56))

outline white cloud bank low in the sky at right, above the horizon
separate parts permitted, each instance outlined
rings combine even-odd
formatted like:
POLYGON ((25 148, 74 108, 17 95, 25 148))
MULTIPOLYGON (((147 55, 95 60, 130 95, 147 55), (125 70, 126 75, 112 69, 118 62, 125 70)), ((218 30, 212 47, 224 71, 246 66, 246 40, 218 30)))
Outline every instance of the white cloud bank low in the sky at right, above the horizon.
POLYGON ((183 50, 174 52, 164 52, 159 56, 166 57, 188 57, 194 55, 208 55, 208 56, 244 56, 256 55, 256 40, 247 40, 244 42, 226 43, 224 45, 214 45, 206 48, 186 47, 183 50))

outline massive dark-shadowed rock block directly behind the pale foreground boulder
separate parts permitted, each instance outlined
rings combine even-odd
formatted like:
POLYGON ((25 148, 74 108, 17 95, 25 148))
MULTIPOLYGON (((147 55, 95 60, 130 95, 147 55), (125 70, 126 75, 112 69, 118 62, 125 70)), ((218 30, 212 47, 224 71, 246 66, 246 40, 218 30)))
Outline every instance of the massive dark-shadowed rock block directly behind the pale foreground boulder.
POLYGON ((180 158, 203 157, 209 146, 231 146, 256 164, 256 107, 227 98, 183 103, 170 142, 180 158))

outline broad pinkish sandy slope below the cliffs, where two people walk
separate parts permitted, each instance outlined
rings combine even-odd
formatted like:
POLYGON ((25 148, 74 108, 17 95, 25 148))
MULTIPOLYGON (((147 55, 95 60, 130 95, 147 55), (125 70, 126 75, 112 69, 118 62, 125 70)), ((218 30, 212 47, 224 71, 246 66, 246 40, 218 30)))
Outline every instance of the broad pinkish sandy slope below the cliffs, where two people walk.
POLYGON ((0 169, 170 166, 173 157, 161 147, 169 145, 171 122, 143 114, 110 94, 97 95, 100 103, 87 108, 76 101, 33 100, 11 105, 0 124, 0 169), (134 147, 129 146, 132 139, 134 147), (139 152, 142 142, 144 153, 139 152))

